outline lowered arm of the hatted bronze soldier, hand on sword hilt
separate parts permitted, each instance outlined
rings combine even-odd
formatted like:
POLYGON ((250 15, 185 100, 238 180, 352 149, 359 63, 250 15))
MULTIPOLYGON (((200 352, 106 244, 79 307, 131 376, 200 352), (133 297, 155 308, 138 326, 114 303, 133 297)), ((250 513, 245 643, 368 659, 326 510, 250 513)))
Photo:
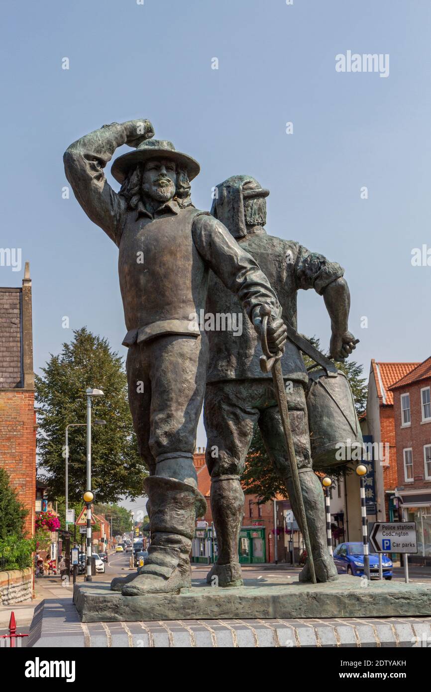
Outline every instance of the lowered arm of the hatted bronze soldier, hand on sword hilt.
POLYGON ((282 309, 259 264, 244 251, 226 226, 212 216, 196 217, 192 229, 199 254, 227 289, 236 293, 248 317, 259 333, 262 320, 259 307, 270 307, 273 321, 268 327, 268 346, 275 352, 286 341, 282 309))

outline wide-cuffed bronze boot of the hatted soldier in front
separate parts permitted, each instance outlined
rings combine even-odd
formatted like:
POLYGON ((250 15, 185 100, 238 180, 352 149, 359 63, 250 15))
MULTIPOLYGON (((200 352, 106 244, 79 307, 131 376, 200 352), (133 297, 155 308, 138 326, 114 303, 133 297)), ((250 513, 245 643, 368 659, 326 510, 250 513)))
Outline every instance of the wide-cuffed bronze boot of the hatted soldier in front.
POLYGON ((151 476, 144 488, 151 505, 152 541, 140 573, 122 588, 122 595, 179 593, 192 585, 189 555, 194 520, 205 513, 205 498, 198 489, 174 478, 151 476))

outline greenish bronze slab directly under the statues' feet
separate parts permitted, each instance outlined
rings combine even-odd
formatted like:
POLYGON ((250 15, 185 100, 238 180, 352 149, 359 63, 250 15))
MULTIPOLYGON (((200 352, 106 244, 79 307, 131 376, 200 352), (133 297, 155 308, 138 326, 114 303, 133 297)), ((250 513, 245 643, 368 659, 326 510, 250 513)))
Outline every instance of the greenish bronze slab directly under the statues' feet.
POLYGON ((75 584, 83 622, 187 619, 429 617, 431 585, 366 582, 340 576, 324 584, 256 583, 212 588, 196 582, 180 594, 122 596, 106 583, 75 584))

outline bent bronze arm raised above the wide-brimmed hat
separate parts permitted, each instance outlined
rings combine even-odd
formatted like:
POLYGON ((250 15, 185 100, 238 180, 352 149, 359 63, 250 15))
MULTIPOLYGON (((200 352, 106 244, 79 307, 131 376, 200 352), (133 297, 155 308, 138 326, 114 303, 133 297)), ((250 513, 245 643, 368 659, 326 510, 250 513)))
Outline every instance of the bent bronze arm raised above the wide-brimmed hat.
POLYGON ((125 200, 111 188, 103 169, 123 144, 135 146, 154 135, 149 120, 113 122, 86 134, 64 153, 66 178, 86 215, 118 244, 125 200), (141 134, 139 134, 141 133, 141 134))

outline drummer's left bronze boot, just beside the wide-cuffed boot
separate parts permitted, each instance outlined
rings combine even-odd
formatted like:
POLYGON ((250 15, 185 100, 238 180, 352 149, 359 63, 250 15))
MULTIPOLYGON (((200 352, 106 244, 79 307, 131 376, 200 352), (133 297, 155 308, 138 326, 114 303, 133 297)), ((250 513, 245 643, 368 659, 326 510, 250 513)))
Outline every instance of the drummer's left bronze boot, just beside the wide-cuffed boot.
POLYGON ((211 482, 211 511, 217 532, 219 557, 207 574, 207 583, 241 586, 238 558, 239 531, 244 513, 244 493, 239 476, 220 476, 211 482))

